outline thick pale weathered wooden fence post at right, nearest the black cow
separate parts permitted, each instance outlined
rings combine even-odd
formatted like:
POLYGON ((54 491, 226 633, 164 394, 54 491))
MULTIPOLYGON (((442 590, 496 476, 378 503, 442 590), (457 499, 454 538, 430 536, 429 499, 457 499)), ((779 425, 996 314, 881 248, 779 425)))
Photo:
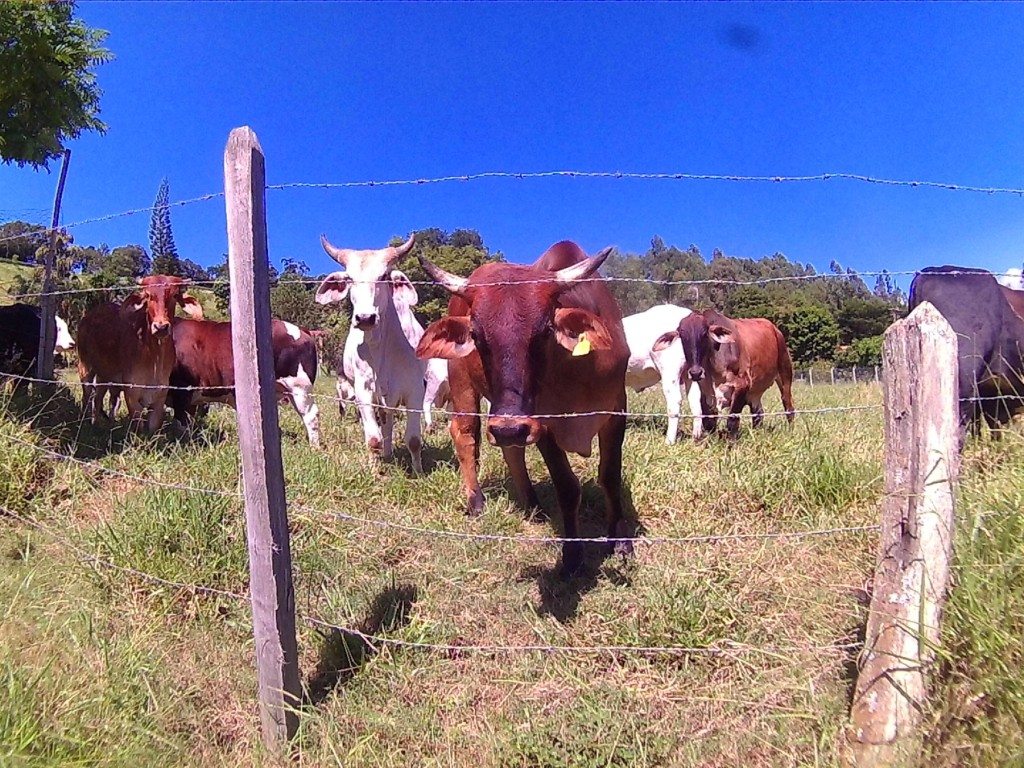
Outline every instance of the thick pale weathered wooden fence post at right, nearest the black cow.
POLYGON ((886 332, 882 541, 848 733, 856 766, 913 755, 949 586, 956 336, 928 302, 886 332))

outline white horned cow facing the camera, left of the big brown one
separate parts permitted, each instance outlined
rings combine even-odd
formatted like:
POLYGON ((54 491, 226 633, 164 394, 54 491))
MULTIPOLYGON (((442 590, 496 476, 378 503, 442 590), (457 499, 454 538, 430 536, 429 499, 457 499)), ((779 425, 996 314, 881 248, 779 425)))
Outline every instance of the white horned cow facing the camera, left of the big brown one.
MULTIPOLYGON (((393 452, 394 409, 407 409, 406 445, 413 457, 413 471, 423 472, 420 439, 420 408, 423 406, 426 364, 401 328, 395 309, 395 284, 391 266, 409 253, 415 236, 397 248, 356 251, 337 248, 321 236, 327 254, 345 267, 332 272, 316 289, 316 302, 330 304, 346 296, 352 302, 352 325, 345 339, 343 375, 338 378, 338 394, 346 396, 345 374, 351 376, 351 396, 355 400, 362 433, 371 453, 390 459, 393 452), (377 423, 375 406, 383 406, 384 429, 377 423)), ((401 274, 401 272, 399 272, 401 274)), ((408 284, 409 279, 401 274, 408 284)))

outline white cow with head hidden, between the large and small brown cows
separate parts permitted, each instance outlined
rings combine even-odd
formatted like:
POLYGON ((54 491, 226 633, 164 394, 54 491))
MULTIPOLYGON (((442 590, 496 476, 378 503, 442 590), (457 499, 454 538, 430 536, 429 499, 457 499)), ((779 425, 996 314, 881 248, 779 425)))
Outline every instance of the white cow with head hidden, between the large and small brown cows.
MULTIPOLYGON (((679 431, 679 413, 682 404, 680 377, 683 364, 683 345, 678 336, 668 346, 654 349, 654 342, 663 335, 673 333, 679 322, 692 312, 675 304, 657 304, 643 312, 623 317, 626 342, 630 345, 630 365, 626 369, 626 386, 640 392, 658 382, 665 393, 669 410, 669 430, 665 441, 672 445, 679 431)), ((700 429, 700 388, 689 385, 687 402, 693 416, 693 434, 700 429)))

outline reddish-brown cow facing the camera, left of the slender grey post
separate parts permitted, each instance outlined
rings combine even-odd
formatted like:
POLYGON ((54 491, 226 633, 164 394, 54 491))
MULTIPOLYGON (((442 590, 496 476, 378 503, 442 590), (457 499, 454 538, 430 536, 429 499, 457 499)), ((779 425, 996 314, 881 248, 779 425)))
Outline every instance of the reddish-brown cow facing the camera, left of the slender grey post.
POLYGON ((121 304, 92 307, 78 326, 78 375, 82 380, 82 407, 97 424, 103 414, 103 396, 111 393, 111 417, 118 394, 133 423, 150 409, 147 428, 164 422, 167 385, 174 367, 171 319, 176 306, 197 318, 203 307, 185 292, 181 278, 153 274, 121 304))

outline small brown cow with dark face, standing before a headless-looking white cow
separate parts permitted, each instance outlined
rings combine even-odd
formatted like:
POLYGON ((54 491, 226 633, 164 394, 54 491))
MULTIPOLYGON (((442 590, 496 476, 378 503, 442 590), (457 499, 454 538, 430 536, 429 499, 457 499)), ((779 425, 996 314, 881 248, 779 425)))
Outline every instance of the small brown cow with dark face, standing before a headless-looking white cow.
POLYGON ((763 317, 733 319, 714 309, 683 317, 679 328, 664 334, 654 349, 676 338, 683 344, 683 374, 700 385, 705 419, 693 420, 693 438, 715 429, 718 409, 729 413, 731 436, 739 430, 739 413, 749 406, 754 426, 761 426, 761 397, 778 384, 786 419, 793 421, 793 360, 782 333, 763 317))

